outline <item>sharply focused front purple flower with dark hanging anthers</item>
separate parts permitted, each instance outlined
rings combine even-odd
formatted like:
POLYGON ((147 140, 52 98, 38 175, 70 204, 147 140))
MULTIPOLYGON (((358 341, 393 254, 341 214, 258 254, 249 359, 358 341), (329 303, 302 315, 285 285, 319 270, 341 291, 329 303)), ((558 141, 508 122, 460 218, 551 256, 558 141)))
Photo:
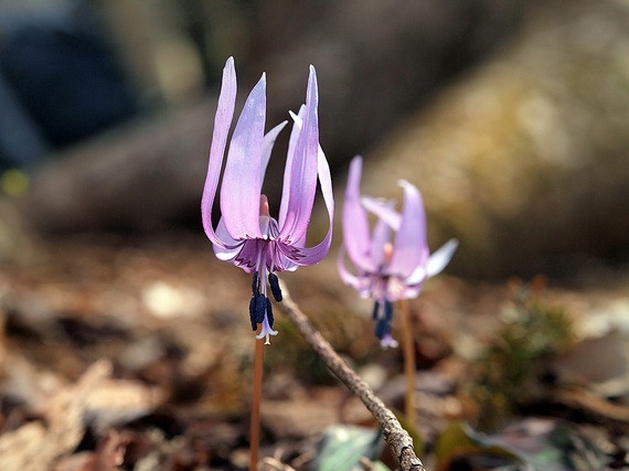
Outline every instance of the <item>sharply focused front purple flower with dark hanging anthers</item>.
POLYGON ((281 205, 276 220, 269 214, 262 184, 275 140, 287 121, 264 133, 266 76, 263 74, 245 103, 230 142, 221 186, 222 217, 214 229, 212 207, 236 103, 233 57, 227 60, 223 69, 201 214, 216 257, 254 274, 249 315, 254 331, 257 324, 262 324, 257 338, 266 339, 266 343, 269 343, 269 335, 277 334, 273 330, 271 304, 266 296, 267 281, 276 301, 281 301, 274 271, 292 271, 300 265, 318 263, 328 253, 332 239, 334 200, 330 168, 319 146, 318 93, 314 67, 310 66, 306 106, 301 106, 297 115, 291 114, 294 125, 284 172, 281 205), (317 180, 330 216, 330 228, 319 245, 307 248, 306 231, 317 180))

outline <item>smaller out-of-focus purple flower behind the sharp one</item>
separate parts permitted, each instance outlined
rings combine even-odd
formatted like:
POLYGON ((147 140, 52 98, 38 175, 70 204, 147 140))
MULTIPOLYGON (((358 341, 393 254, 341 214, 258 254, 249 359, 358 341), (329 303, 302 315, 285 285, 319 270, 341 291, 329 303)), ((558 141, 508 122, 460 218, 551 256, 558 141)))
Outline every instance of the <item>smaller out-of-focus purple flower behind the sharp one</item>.
POLYGON ((394 210, 394 201, 361 196, 361 173, 362 158, 356 156, 350 164, 343 204, 339 272, 345 285, 356 289, 362 297, 375 300, 375 334, 383 346, 396 346, 397 342, 391 336, 392 303, 416 298, 426 278, 448 265, 458 242, 450 239, 430 255, 419 191, 406 180, 399 180, 404 190, 404 206, 399 214, 394 210), (371 234, 367 211, 377 218, 371 234), (393 243, 392 233, 395 233, 393 243), (345 267, 345 253, 354 265, 355 275, 345 267))

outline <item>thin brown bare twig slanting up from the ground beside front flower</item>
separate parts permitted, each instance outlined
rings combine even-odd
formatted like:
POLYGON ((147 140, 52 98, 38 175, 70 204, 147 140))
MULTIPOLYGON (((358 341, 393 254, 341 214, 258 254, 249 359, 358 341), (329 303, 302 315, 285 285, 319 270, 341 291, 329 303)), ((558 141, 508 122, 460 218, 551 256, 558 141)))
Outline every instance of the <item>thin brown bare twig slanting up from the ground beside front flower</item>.
POLYGON ((399 461, 399 468, 403 471, 426 471, 422 460, 415 454, 411 436, 402 428, 395 415, 386 408, 372 388, 337 354, 332 345, 323 339, 319 331, 310 324, 308 318, 290 297, 286 285, 280 281, 280 286, 284 300, 279 306, 281 306, 297 330, 319 354, 321 360, 326 362, 332 373, 363 402, 369 411, 382 426, 386 445, 388 445, 388 448, 391 448, 391 451, 399 461))

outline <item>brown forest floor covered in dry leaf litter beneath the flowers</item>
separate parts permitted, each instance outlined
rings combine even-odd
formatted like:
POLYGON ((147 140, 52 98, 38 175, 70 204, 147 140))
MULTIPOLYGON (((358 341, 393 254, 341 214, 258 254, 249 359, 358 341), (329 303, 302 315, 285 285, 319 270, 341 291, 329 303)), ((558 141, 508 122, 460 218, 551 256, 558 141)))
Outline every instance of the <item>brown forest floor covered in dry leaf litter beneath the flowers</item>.
MULTIPOLYGON (((250 280, 206 240, 73 237, 0 268, 0 469, 246 469, 250 280)), ((282 279, 322 335, 402 410, 401 349, 380 347, 372 307, 342 285, 333 254, 282 279)), ((426 283, 411 306, 412 435, 427 468, 627 465, 629 279, 607 281, 426 283)), ((377 432, 376 422, 280 306, 276 329, 265 347, 260 454, 277 461, 264 467, 314 469, 339 430, 377 432)), ((395 468, 382 440, 367 448, 363 468, 395 468)))

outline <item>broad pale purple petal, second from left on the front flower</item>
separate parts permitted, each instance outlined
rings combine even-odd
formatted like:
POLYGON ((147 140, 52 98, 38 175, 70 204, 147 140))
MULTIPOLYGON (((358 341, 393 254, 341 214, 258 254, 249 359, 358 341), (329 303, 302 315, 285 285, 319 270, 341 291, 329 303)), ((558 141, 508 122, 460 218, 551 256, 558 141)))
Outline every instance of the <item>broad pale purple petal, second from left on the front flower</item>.
POLYGON ((221 189, 221 213, 235 239, 262 237, 260 167, 266 118, 266 77, 249 94, 230 143, 221 189))

